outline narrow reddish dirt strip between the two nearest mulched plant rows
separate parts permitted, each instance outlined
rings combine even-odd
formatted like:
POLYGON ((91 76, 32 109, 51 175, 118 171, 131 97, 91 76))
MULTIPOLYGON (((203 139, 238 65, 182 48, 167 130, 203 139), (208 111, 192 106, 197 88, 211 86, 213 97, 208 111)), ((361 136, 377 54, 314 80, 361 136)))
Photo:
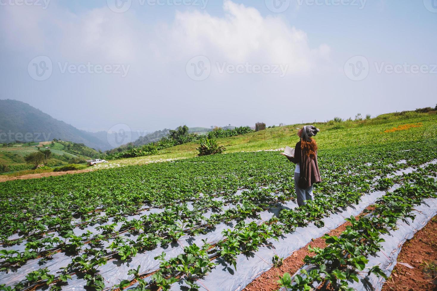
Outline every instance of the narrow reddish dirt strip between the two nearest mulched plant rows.
MULTIPOLYGON (((368 206, 367 210, 372 210, 372 206, 368 206)), ((362 215, 360 213, 355 218, 359 218, 362 215)), ((331 230, 328 234, 331 236, 339 236, 346 227, 349 226, 350 223, 346 222, 337 227, 334 230, 331 230)), ((262 274, 260 277, 257 277, 253 280, 249 285, 244 288, 246 291, 273 291, 279 289, 279 284, 277 284, 277 280, 279 280, 279 276, 283 276, 285 273, 294 274, 297 272, 303 265, 303 259, 305 256, 314 256, 314 253, 310 253, 308 251, 308 246, 311 247, 326 247, 325 239, 322 237, 313 239, 309 244, 305 247, 302 247, 299 250, 296 250, 290 257, 284 259, 281 267, 272 267, 269 271, 262 274)))

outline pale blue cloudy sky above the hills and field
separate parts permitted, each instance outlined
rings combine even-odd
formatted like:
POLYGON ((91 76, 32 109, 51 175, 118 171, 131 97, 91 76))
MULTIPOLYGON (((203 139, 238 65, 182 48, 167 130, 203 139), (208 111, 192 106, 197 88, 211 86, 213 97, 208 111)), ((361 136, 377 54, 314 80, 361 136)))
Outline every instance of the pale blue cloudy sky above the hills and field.
POLYGON ((80 129, 291 124, 437 102, 436 0, 291 0, 281 13, 270 0, 209 0, 205 9, 132 0, 124 13, 112 0, 51 0, 46 9, 14 1, 0 6, 1 98, 80 129), (38 81, 40 56, 52 73, 38 81), (196 80, 189 70, 204 64, 208 75, 196 80), (275 73, 280 65, 286 74, 275 73))

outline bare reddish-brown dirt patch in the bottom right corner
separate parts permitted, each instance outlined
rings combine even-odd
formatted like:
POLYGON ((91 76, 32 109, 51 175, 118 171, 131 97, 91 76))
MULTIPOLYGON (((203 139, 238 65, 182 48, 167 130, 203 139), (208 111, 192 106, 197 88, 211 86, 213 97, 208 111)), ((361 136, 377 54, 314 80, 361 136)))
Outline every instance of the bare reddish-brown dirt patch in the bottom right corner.
POLYGON ((382 291, 392 290, 437 291, 437 217, 402 246, 392 276, 382 286, 382 291))

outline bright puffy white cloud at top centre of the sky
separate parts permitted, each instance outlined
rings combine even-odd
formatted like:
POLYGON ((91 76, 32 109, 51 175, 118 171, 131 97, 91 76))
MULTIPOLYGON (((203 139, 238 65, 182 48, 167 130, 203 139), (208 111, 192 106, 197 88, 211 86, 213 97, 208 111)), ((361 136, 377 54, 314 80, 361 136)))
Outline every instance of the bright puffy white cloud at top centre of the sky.
POLYGON ((281 17, 263 17, 243 4, 225 0, 225 17, 198 11, 177 13, 170 44, 184 54, 205 54, 212 61, 288 64, 295 73, 309 72, 329 58, 326 44, 311 49, 302 30, 281 17))

